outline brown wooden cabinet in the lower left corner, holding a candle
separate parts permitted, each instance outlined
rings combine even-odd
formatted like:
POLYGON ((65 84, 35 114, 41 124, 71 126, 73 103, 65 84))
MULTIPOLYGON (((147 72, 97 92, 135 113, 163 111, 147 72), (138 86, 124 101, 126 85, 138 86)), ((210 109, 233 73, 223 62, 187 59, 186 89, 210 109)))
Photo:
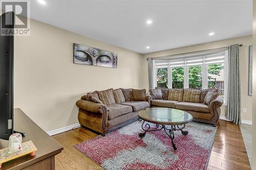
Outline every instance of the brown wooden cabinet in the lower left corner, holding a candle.
MULTIPOLYGON (((14 109, 14 130, 26 133, 23 142, 32 140, 37 148, 35 156, 23 156, 3 163, 2 169, 55 169, 54 156, 63 147, 37 126, 22 110, 14 109)), ((8 140, 0 139, 0 149, 8 147, 8 140)))

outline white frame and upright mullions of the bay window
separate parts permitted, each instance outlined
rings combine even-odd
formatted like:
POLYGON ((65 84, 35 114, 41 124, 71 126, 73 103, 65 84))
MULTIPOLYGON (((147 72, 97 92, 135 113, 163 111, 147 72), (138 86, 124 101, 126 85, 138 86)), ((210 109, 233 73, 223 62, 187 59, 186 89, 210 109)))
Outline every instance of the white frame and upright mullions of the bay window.
MULTIPOLYGON (((203 57, 204 58, 204 57, 203 57)), ((189 78, 188 78, 188 67, 192 65, 187 65, 186 59, 185 59, 185 65, 184 66, 170 66, 170 61, 168 61, 168 66, 161 67, 161 68, 167 68, 167 78, 168 78, 168 88, 172 88, 173 86, 173 79, 172 79, 172 69, 183 67, 184 68, 184 83, 183 88, 189 88, 189 78)), ((202 65, 202 89, 208 88, 208 65, 205 63, 205 60, 203 59, 202 65)), ((193 65, 196 66, 196 65, 193 65)), ((156 63, 153 60, 153 76, 154 76, 154 88, 157 86, 157 69, 156 63)), ((228 92, 228 50, 225 50, 225 58, 224 58, 224 105, 227 105, 227 92, 228 92)))

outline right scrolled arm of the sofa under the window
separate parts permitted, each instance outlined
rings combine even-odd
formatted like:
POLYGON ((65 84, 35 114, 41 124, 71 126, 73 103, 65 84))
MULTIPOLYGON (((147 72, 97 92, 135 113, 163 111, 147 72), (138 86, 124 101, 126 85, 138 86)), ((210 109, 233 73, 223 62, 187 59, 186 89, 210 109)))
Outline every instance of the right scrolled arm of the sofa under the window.
POLYGON ((220 96, 215 99, 214 101, 212 101, 210 103, 210 113, 212 114, 212 117, 210 119, 211 121, 211 124, 213 126, 217 126, 218 125, 218 122, 219 122, 219 118, 220 118, 220 115, 221 115, 221 109, 220 107, 223 105, 223 98, 221 98, 220 96))

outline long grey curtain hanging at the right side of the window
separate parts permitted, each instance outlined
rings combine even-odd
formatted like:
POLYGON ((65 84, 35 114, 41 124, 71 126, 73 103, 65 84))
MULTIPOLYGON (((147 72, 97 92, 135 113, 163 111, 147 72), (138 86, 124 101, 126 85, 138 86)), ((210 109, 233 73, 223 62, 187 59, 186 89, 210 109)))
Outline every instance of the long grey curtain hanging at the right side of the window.
POLYGON ((239 44, 229 46, 227 119, 241 124, 241 85, 239 69, 239 44))

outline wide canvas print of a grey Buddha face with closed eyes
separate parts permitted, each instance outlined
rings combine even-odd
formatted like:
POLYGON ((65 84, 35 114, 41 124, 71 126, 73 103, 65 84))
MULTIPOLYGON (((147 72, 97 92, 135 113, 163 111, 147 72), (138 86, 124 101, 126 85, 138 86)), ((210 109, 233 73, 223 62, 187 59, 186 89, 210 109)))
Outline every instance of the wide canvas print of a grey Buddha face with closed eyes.
POLYGON ((117 54, 74 43, 74 63, 117 68, 117 54))

